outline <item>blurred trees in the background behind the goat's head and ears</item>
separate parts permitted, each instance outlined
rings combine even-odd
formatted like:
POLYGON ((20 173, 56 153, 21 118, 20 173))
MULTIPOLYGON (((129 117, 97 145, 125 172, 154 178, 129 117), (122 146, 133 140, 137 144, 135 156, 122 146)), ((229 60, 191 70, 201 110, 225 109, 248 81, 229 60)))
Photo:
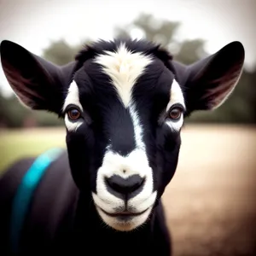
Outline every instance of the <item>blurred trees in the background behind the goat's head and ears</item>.
MULTIPOLYGON (((184 40, 179 42, 176 35, 180 24, 169 20, 155 19, 153 15, 142 14, 125 27, 115 27, 114 36, 127 38, 143 35, 155 43, 160 43, 174 55, 174 60, 183 64, 190 64, 207 56, 204 49, 205 42, 201 38, 194 40, 184 40)), ((85 40, 84 44, 90 43, 85 40)), ((44 49, 43 57, 58 65, 64 65, 73 61, 74 56, 82 44, 71 46, 65 40, 59 40, 44 49)), ((236 86, 236 90, 229 99, 212 112, 195 112, 189 122, 211 122, 211 123, 236 123, 255 124, 256 123, 256 70, 252 73, 243 71, 241 79, 236 86)), ((32 111, 20 107, 20 102, 15 98, 9 99, 0 96, 0 125, 9 127, 19 127, 23 125, 62 125, 62 120, 57 119, 55 114, 41 111, 32 111)))

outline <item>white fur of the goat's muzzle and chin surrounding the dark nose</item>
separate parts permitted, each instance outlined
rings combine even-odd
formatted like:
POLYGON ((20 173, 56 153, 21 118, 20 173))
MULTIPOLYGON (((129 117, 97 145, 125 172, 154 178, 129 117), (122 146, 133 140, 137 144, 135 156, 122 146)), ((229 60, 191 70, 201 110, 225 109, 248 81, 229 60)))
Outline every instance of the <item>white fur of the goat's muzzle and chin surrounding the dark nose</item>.
POLYGON ((143 224, 148 218, 156 195, 156 191, 153 191, 153 172, 148 166, 147 155, 142 149, 137 148, 127 156, 119 155, 110 150, 105 154, 102 166, 97 172, 96 194, 92 193, 92 196, 97 210, 106 224, 116 230, 123 231, 137 228, 137 226, 143 224), (125 172, 123 172, 123 170, 125 170, 125 172), (102 209, 105 212, 113 213, 117 207, 125 210, 125 201, 109 193, 106 188, 105 177, 111 177, 114 174, 123 178, 137 174, 145 178, 143 190, 138 195, 131 198, 127 205, 128 207, 134 208, 136 212, 148 210, 142 215, 132 218, 129 223, 110 217, 101 211, 102 209))

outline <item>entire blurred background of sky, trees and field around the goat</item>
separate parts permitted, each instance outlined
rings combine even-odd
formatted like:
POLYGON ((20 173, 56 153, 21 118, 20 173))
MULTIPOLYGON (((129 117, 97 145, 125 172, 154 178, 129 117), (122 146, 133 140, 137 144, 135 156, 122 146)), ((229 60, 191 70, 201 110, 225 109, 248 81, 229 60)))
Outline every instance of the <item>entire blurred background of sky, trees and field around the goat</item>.
MULTIPOLYGON (((56 64, 102 38, 148 38, 190 64, 232 41, 246 59, 223 106, 194 113, 164 202, 175 255, 256 255, 255 0, 0 0, 0 41, 56 64)), ((236 53, 234 53, 236 54, 236 53)), ((54 114, 20 105, 0 68, 0 173, 11 162, 66 147, 54 114)))

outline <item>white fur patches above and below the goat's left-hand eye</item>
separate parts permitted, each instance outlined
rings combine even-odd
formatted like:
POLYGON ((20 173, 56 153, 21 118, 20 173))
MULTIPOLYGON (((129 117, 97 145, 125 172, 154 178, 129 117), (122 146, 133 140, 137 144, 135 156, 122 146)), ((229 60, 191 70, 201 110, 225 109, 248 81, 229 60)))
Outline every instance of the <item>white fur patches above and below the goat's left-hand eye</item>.
MULTIPOLYGON (((83 107, 79 101, 79 87, 75 81, 73 81, 69 85, 69 88, 67 91, 67 97, 66 97, 65 102, 62 107, 63 112, 66 111, 66 108, 69 104, 73 104, 73 105, 77 106, 81 112, 83 111, 83 107)), ((65 114, 64 121, 65 121, 65 125, 67 126, 68 131, 76 131, 79 128, 79 126, 83 124, 83 122, 80 120, 71 122, 68 119, 67 113, 65 114)))

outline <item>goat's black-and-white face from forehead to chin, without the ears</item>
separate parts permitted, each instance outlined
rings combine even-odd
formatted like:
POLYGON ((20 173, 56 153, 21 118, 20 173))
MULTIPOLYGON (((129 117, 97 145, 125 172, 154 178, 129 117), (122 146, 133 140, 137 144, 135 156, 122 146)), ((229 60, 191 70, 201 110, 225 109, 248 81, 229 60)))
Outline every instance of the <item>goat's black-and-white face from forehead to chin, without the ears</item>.
POLYGON ((136 46, 85 61, 63 108, 74 176, 90 180, 97 211, 117 230, 143 224, 170 181, 185 111, 172 71, 136 46))

